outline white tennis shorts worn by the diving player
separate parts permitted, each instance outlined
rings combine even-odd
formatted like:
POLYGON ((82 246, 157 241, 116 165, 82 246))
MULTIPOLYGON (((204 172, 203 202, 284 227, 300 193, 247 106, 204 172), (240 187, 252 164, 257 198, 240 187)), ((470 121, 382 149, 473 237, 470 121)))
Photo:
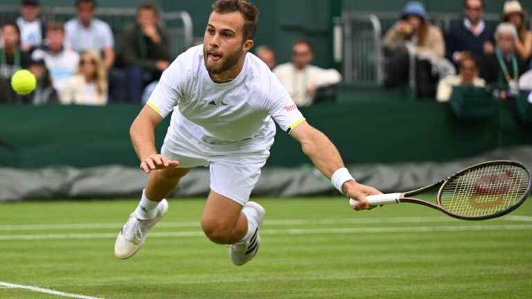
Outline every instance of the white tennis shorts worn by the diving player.
MULTIPOLYGON (((211 145, 187 132, 166 135, 161 154, 179 161, 180 168, 209 167, 210 188, 244 206, 269 157, 269 146, 211 145)), ((272 141, 273 142, 273 141, 272 141)))

